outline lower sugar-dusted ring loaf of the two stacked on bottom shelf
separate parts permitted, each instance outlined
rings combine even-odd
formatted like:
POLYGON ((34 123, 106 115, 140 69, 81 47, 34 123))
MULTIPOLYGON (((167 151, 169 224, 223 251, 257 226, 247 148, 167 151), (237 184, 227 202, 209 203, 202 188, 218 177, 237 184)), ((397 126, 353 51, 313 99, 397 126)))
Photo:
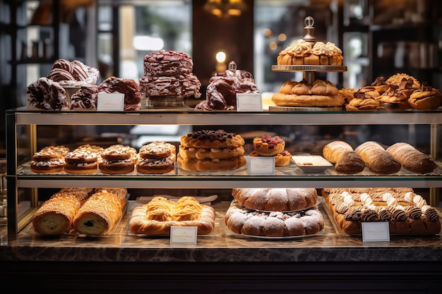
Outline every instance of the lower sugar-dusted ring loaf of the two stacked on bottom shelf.
POLYGON ((323 230, 324 220, 318 209, 298 212, 257 212, 233 200, 225 214, 225 224, 237 234, 288 237, 313 235, 323 230))

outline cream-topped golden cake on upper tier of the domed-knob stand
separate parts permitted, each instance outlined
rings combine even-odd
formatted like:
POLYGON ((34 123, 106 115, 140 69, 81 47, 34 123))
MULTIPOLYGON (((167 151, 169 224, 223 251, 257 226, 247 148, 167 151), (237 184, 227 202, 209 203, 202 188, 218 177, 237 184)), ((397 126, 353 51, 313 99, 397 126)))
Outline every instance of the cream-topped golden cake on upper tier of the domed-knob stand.
POLYGON ((304 39, 297 39, 280 51, 278 65, 342 66, 342 51, 331 42, 316 42, 313 47, 304 39))

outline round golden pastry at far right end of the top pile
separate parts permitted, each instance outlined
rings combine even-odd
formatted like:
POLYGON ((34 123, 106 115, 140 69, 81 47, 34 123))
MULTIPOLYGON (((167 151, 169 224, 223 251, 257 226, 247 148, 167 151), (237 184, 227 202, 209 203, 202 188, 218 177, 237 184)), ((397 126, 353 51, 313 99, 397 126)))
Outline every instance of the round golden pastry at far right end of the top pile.
POLYGON ((438 109, 442 104, 442 94, 439 90, 434 89, 427 85, 426 82, 423 82, 422 87, 420 87, 419 90, 412 92, 408 99, 408 103, 414 109, 438 109))

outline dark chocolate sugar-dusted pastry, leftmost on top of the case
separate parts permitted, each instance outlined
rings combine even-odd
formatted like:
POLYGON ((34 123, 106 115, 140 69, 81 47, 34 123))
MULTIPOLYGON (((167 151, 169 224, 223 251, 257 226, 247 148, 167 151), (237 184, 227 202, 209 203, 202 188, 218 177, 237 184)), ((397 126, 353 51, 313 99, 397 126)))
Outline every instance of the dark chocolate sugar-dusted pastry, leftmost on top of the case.
POLYGON ((49 78, 39 78, 26 87, 28 106, 45 110, 69 109, 66 90, 49 78))

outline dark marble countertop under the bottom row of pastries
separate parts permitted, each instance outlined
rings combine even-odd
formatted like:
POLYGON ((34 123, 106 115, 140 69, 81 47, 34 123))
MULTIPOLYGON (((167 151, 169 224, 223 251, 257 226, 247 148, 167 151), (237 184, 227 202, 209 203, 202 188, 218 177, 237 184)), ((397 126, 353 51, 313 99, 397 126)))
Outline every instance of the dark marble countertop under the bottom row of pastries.
POLYGON ((391 235, 389 242, 363 243, 340 233, 323 204, 325 229, 299 238, 254 238, 231 233, 224 223, 229 202, 213 204, 215 230, 198 235, 196 245, 171 245, 167 237, 129 233, 131 207, 112 235, 39 236, 32 225, 16 240, 0 227, 0 260, 64 262, 442 262, 441 235, 391 235))

